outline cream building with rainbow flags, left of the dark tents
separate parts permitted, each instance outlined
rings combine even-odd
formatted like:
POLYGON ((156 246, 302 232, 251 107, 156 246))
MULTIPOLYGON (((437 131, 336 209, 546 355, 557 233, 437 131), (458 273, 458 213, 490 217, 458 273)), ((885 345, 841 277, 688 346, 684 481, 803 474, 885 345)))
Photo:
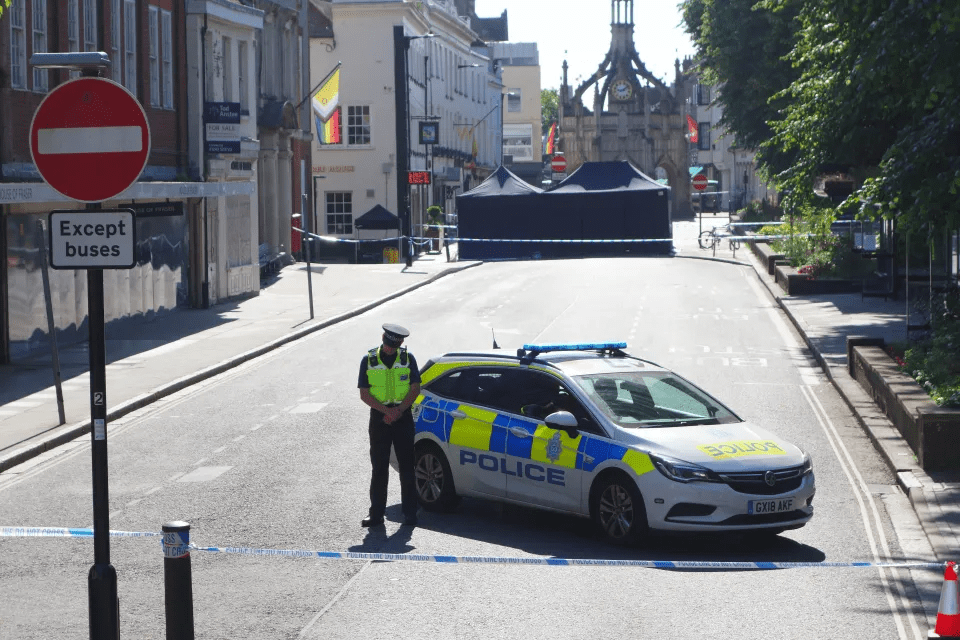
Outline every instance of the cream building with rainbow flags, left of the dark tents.
MULTIPOLYGON (((423 236, 427 207, 452 212, 456 194, 499 164, 501 70, 463 11, 450 0, 314 0, 316 233, 396 238, 397 230, 354 226, 380 205, 404 233, 423 236)), ((381 254, 391 248, 363 245, 381 254)), ((321 249, 327 258, 357 260, 364 246, 321 249)))

